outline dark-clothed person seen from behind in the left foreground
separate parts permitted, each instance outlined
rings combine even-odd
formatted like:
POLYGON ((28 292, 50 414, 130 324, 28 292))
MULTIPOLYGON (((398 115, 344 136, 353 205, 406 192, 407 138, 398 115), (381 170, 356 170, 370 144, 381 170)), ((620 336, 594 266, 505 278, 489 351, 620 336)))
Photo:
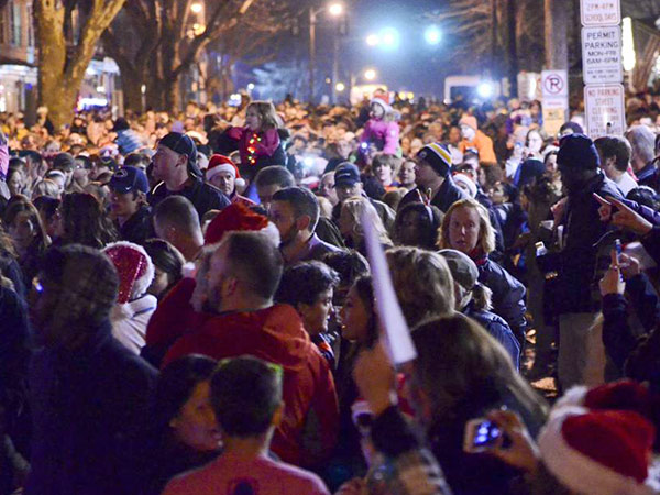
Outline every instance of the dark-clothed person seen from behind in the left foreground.
POLYGON ((34 278, 28 495, 128 495, 141 483, 157 372, 112 337, 118 288, 108 256, 79 244, 48 250, 34 278))

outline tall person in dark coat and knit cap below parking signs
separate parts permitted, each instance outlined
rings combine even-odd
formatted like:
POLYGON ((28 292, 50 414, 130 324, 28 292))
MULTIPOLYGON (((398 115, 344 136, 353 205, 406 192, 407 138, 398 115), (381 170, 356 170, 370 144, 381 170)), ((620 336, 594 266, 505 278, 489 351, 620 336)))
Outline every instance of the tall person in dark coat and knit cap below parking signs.
POLYGON ((616 184, 600 168, 598 152, 586 135, 562 138, 557 164, 568 191, 566 200, 553 210, 556 223, 564 226, 556 311, 560 332, 558 373, 568 389, 581 381, 588 328, 600 309, 600 296, 592 288, 598 266, 596 243, 608 227, 600 221, 594 193, 603 198, 623 198, 616 184))

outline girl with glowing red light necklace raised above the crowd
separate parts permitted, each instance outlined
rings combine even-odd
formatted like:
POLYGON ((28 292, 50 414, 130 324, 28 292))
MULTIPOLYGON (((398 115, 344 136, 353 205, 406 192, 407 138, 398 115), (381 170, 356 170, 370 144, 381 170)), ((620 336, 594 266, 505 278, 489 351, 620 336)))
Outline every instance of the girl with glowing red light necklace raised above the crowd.
POLYGON ((220 136, 220 153, 239 150, 241 176, 250 182, 268 165, 286 165, 277 120, 273 103, 253 101, 248 106, 245 127, 231 127, 220 136))

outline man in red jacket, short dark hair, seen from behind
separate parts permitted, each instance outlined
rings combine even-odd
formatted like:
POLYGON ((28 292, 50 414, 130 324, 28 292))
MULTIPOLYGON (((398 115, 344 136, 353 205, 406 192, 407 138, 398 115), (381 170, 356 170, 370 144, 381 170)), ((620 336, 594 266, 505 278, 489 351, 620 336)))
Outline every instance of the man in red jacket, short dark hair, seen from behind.
POLYGON ((217 315, 178 339, 163 366, 187 354, 252 354, 282 365, 285 411, 272 450, 285 462, 314 466, 336 440, 337 395, 330 369, 296 310, 273 305, 282 271, 282 255, 265 234, 228 233, 211 256, 206 280, 205 306, 217 315))

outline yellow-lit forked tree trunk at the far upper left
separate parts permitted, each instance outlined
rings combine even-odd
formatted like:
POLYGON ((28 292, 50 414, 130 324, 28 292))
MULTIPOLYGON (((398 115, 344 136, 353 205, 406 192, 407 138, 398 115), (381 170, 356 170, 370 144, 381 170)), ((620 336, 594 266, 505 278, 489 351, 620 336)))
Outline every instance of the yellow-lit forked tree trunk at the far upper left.
POLYGON ((97 42, 124 2, 35 0, 40 100, 48 107, 48 116, 56 128, 72 121, 76 97, 97 42), (80 32, 77 43, 69 45, 67 20, 78 6, 84 10, 80 32))

